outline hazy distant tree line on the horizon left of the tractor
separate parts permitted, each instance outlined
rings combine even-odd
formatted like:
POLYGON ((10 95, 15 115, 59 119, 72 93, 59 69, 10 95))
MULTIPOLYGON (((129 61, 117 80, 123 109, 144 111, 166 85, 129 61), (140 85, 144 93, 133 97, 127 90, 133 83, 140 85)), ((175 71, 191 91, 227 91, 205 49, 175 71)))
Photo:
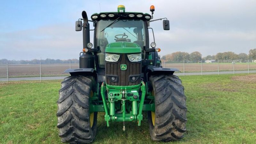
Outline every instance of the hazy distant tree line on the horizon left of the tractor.
POLYGON ((74 64, 74 63, 79 63, 79 60, 77 59, 68 59, 68 60, 60 60, 60 59, 45 59, 45 60, 7 60, 7 59, 2 59, 0 60, 0 65, 6 65, 7 62, 8 64, 74 64))

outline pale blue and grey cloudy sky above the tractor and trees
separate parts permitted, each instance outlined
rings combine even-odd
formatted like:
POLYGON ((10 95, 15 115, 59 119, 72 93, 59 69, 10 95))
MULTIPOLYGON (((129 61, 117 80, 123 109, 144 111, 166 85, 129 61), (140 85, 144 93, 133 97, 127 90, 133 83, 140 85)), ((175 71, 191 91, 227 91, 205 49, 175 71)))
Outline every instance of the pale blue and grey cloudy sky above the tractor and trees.
POLYGON ((177 51, 199 51, 203 56, 228 51, 248 54, 256 48, 256 0, 2 1, 0 59, 78 59, 83 44, 75 21, 81 12, 90 17, 117 11, 120 4, 126 12, 147 13, 153 4, 155 19, 170 20, 169 31, 163 30, 162 21, 150 24, 160 55, 177 51))

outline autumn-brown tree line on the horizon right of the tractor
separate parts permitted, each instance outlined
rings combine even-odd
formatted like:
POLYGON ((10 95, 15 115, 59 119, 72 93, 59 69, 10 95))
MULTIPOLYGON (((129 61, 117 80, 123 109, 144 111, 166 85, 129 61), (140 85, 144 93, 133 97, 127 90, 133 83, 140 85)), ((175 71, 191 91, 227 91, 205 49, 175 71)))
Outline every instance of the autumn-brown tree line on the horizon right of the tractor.
POLYGON ((239 62, 247 62, 248 60, 256 60, 256 49, 251 49, 249 54, 235 52, 219 52, 216 55, 207 55, 202 58, 202 54, 200 52, 173 52, 171 54, 167 54, 161 57, 161 60, 165 60, 167 62, 201 62, 205 60, 215 60, 219 62, 232 62, 234 60, 239 62))

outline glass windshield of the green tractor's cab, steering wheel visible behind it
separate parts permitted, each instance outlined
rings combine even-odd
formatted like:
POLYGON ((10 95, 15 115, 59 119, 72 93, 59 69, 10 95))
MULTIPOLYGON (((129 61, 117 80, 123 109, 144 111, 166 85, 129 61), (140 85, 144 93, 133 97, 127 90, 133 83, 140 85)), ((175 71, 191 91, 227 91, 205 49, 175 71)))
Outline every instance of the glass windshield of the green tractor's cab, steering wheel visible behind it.
POLYGON ((141 49, 146 45, 145 26, 143 20, 100 20, 97 23, 96 42, 100 68, 105 68, 106 45, 114 42, 132 42, 140 45, 141 49))

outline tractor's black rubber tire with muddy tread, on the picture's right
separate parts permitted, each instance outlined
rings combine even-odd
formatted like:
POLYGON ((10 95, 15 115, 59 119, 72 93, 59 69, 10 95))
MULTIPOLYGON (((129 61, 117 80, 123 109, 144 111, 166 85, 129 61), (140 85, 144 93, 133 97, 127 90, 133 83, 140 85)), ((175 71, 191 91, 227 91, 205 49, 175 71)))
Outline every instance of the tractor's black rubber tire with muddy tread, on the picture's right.
POLYGON ((174 75, 150 76, 155 97, 155 125, 148 112, 152 140, 175 141, 184 137, 187 122, 186 96, 181 80, 174 75))

